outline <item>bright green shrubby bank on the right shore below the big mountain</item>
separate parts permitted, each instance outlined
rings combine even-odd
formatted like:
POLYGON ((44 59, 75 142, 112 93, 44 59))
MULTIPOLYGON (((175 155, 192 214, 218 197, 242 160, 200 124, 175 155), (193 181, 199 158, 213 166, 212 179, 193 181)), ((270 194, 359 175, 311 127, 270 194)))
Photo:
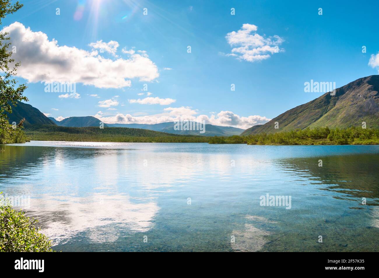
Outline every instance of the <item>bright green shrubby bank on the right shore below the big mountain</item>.
POLYGON ((373 145, 379 144, 379 129, 298 129, 274 134, 257 134, 248 136, 213 137, 210 144, 249 145, 373 145))

